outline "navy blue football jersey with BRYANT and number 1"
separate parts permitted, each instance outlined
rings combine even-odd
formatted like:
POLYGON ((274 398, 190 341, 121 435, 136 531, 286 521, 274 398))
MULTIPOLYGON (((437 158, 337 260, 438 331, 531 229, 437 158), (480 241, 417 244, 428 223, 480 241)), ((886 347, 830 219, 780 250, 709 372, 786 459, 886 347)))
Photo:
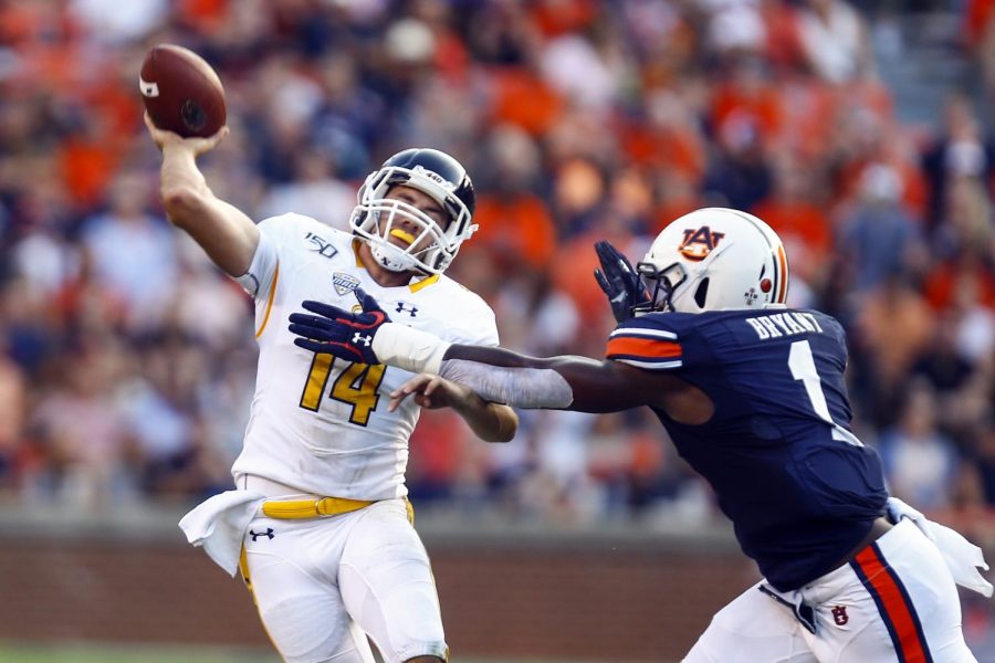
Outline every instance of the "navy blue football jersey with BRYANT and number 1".
POLYGON ((607 357, 672 372, 711 397, 704 424, 657 415, 778 590, 830 570, 884 514, 881 461, 849 429, 846 335, 832 317, 653 313, 621 323, 607 357))

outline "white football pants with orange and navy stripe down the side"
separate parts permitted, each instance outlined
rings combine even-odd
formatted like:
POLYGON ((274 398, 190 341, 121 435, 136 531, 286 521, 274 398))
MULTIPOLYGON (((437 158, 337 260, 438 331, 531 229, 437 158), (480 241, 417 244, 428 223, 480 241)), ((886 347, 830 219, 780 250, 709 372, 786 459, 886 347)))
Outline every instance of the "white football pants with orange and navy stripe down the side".
POLYGON ((953 577, 911 520, 783 594, 814 608, 815 633, 761 585, 715 614, 684 663, 976 663, 953 577))

